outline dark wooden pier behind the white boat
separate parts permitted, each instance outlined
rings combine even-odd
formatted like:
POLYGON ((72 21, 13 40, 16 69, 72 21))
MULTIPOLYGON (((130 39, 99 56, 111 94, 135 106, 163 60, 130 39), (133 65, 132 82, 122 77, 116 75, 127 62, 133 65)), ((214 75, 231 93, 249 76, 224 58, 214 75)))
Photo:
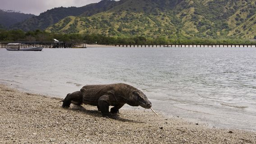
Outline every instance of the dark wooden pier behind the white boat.
POLYGON ((13 48, 23 45, 24 47, 44 47, 44 48, 75 48, 73 43, 64 42, 0 42, 1 48, 9 48, 10 43, 18 43, 20 45, 12 45, 13 48))

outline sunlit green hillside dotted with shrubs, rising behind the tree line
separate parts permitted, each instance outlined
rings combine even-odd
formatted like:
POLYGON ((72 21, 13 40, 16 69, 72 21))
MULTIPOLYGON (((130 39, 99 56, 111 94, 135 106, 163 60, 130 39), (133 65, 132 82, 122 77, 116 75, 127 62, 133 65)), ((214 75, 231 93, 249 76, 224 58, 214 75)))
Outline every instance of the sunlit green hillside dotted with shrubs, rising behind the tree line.
MULTIPOLYGON (((37 28, 104 36, 215 39, 256 36, 256 0, 102 0, 83 8, 79 14, 63 15, 63 19, 48 18, 51 21, 47 25, 37 28)), ((47 20, 39 17, 43 22, 47 20)), ((37 25, 40 23, 32 23, 37 25)))

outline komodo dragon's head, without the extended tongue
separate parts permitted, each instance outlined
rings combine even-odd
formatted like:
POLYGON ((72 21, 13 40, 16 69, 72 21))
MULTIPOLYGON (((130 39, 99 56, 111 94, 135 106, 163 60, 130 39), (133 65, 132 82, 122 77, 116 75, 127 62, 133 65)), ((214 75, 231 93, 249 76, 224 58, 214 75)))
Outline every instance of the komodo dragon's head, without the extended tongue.
POLYGON ((142 93, 140 90, 134 90, 128 99, 128 103, 131 106, 141 106, 142 108, 151 108, 152 104, 147 99, 146 95, 142 93))

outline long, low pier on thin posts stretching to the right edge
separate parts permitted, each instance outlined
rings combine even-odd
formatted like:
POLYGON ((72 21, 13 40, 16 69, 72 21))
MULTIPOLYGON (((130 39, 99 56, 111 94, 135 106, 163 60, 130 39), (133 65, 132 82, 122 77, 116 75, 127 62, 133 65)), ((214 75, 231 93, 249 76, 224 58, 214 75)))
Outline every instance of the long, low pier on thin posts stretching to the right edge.
POLYGON ((256 47, 256 44, 218 44, 218 45, 212 45, 212 44, 204 44, 204 45, 187 45, 187 44, 179 44, 179 45, 174 45, 174 44, 166 44, 166 45, 141 45, 141 44, 118 44, 115 45, 117 47, 134 47, 134 48, 163 48, 163 47, 171 47, 171 48, 217 48, 217 47, 235 47, 235 48, 245 48, 245 47, 256 47))

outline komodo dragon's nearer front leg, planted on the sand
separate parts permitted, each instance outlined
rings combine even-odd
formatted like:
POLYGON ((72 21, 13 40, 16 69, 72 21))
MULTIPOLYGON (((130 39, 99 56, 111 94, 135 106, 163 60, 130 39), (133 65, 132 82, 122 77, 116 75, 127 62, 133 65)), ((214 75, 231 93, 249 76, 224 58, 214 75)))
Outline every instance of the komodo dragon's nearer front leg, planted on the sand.
POLYGON ((110 104, 110 95, 109 94, 105 94, 99 98, 98 109, 101 111, 102 116, 117 119, 118 116, 116 114, 109 112, 110 105, 111 104, 110 104))

